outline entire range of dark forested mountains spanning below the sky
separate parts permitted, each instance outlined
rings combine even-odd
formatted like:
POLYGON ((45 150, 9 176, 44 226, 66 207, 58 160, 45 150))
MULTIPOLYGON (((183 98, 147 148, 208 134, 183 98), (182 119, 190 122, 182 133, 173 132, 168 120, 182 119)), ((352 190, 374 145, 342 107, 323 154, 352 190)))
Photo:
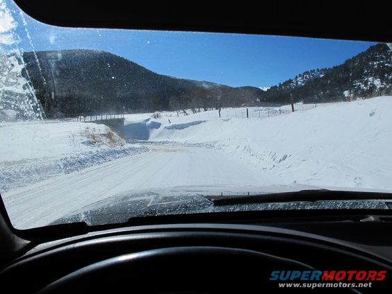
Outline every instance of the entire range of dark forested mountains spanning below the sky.
POLYGON ((343 64, 305 71, 269 88, 229 87, 156 74, 104 51, 24 53, 37 98, 48 116, 237 107, 255 101, 344 101, 392 94, 392 51, 370 46, 343 64))

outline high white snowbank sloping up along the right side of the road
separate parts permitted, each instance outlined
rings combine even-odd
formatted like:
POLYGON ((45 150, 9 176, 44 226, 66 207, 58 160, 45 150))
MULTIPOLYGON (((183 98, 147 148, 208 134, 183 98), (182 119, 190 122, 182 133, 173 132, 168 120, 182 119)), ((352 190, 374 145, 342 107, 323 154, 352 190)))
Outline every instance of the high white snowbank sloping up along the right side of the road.
POLYGON ((213 143, 272 175, 273 184, 392 190, 391 110, 392 96, 382 96, 262 119, 191 123, 192 116, 198 121, 196 114, 181 117, 188 128, 165 122, 149 139, 213 143))

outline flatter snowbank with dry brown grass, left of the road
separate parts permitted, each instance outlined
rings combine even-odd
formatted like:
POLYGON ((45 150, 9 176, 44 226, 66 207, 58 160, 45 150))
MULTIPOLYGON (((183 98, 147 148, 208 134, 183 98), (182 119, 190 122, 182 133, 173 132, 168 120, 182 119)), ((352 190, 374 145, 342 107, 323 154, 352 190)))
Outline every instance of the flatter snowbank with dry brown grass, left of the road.
POLYGON ((1 123, 0 146, 1 192, 148 150, 107 126, 76 121, 1 123))

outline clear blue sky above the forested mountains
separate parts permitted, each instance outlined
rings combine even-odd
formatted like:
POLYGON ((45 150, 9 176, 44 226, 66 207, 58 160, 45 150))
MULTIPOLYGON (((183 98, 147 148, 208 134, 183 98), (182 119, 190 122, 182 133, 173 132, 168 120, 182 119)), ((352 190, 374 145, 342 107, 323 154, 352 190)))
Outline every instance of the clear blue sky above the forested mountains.
POLYGON ((177 33, 57 28, 25 15, 12 1, 15 32, 25 51, 100 49, 121 55, 158 74, 208 80, 231 86, 276 85, 309 69, 332 67, 373 42, 319 40, 262 35, 177 33))

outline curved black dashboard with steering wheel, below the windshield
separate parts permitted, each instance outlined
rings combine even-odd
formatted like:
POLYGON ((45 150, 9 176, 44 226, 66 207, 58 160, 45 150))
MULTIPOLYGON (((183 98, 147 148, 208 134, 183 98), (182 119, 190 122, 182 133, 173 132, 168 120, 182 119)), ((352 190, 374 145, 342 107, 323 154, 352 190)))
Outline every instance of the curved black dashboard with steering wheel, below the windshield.
MULTIPOLYGON (((214 222, 118 227, 31 245, 3 269, 0 280, 21 293, 120 291, 124 285, 136 293, 253 293, 262 288, 287 293, 269 281, 271 270, 390 273, 391 226, 391 218, 380 214, 303 212, 285 220, 248 214, 235 223, 221 216, 214 222)), ((390 286, 386 276, 371 288, 333 291, 385 293, 390 286)), ((324 291, 331 289, 316 289, 324 291)))

